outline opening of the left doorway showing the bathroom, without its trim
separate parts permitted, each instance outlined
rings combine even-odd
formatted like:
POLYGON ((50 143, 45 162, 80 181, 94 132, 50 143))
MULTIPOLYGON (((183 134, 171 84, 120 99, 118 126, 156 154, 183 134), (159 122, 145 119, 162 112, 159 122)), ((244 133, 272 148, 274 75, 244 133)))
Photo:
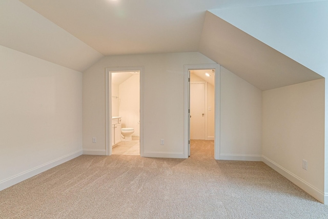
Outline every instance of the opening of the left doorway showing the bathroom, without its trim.
POLYGON ((112 154, 140 155, 139 75, 111 72, 112 154))

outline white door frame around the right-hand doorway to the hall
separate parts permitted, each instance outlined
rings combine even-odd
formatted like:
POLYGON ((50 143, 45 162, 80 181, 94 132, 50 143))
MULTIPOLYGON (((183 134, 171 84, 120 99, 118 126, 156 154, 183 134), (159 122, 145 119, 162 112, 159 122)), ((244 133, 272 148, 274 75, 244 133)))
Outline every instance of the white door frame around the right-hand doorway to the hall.
POLYGON ((184 109, 183 109, 183 154, 185 158, 190 155, 190 70, 215 70, 215 136, 214 136, 214 158, 220 160, 220 65, 201 64, 184 66, 184 109))

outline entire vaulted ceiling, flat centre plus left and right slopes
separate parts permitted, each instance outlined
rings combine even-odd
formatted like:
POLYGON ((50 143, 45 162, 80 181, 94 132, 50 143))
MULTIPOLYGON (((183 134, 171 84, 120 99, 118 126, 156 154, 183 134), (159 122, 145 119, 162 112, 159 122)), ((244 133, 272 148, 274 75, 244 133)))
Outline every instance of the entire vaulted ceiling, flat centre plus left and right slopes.
POLYGON ((321 76, 206 11, 315 1, 4 0, 0 45, 80 72, 104 55, 199 51, 267 90, 321 76))

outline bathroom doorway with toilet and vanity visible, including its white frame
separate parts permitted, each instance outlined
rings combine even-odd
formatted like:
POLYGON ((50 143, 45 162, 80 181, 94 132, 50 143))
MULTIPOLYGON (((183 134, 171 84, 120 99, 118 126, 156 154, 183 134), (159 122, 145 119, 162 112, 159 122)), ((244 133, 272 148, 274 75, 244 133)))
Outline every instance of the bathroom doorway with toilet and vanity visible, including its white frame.
POLYGON ((107 155, 141 155, 142 68, 106 68, 107 155))

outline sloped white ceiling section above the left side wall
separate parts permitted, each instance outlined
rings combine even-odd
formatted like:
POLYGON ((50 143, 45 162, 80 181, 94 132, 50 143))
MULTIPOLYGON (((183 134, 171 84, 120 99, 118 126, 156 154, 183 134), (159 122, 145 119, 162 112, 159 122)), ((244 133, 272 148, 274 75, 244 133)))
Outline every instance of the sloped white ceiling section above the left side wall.
POLYGON ((0 1, 0 45, 80 72, 103 57, 17 0, 0 1))

